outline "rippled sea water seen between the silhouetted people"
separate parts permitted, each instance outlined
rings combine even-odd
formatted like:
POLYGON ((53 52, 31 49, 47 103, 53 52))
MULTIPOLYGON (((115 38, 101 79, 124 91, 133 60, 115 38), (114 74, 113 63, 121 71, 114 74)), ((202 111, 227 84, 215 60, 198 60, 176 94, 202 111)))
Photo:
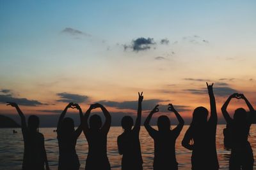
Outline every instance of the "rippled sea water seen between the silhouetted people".
MULTIPOLYGON (((218 152, 218 159, 220 163, 220 169, 228 169, 228 159, 230 152, 223 148, 223 129, 225 125, 218 125, 216 134, 216 146, 218 152)), ((49 166, 51 169, 58 169, 58 141, 56 139, 56 132, 53 130, 56 128, 40 128, 40 132, 45 137, 45 148, 47 157, 49 160, 49 166)), ((191 169, 191 152, 181 146, 184 133, 188 129, 188 125, 185 125, 180 133, 176 142, 176 157, 179 162, 179 169, 191 169)), ((250 131, 250 143, 253 148, 253 152, 256 151, 256 125, 252 125, 250 131)), ((23 156, 23 141, 22 133, 20 129, 15 129, 17 134, 13 134, 13 129, 0 129, 0 169, 21 169, 22 156, 23 156)), ((111 127, 108 134, 108 157, 111 164, 111 169, 121 169, 121 156, 118 154, 116 138, 122 133, 122 127, 111 127)), ((154 159, 154 141, 148 136, 144 127, 141 127, 140 132, 141 152, 143 157, 143 169, 152 169, 154 159)), ((77 140, 76 145, 77 155, 79 156, 81 167, 84 169, 85 160, 88 154, 88 144, 82 132, 81 136, 77 140)), ((205 150, 207 152, 207 150, 205 150)), ((255 154, 256 155, 256 154, 255 154)), ((256 157, 254 158, 256 160, 256 157)), ((254 166, 256 169, 256 164, 254 166)))

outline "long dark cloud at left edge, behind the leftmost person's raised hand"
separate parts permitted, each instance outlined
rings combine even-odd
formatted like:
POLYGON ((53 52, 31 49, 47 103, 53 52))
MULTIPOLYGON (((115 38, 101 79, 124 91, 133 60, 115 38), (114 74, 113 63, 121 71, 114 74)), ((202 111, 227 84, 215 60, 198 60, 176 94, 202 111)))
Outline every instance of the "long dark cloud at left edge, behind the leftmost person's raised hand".
POLYGON ((15 102, 19 105, 23 106, 37 106, 42 105, 39 101, 36 100, 29 100, 26 98, 16 98, 13 97, 11 94, 3 94, 0 95, 0 103, 6 103, 6 102, 15 102))

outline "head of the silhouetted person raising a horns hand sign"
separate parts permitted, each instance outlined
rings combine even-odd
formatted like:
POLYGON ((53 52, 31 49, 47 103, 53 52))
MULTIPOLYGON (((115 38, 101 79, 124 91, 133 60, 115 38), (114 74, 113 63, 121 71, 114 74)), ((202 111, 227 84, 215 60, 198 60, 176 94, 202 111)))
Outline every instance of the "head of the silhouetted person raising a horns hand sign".
POLYGON ((193 112, 192 124, 200 125, 207 122, 208 110, 202 106, 195 108, 193 112))

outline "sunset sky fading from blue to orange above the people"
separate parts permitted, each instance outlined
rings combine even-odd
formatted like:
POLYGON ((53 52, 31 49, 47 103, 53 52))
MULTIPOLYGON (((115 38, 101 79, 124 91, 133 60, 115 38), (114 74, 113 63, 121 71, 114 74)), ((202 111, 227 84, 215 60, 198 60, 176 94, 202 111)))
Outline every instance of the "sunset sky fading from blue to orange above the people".
MULTIPOLYGON (((208 81, 221 122, 234 92, 256 107, 255 8, 234 0, 0 1, 0 114, 16 115, 5 104, 15 101, 51 122, 69 101, 83 111, 100 102, 119 122, 136 113, 143 91, 144 117, 173 103, 189 123, 197 106, 209 109, 208 81)), ((239 106, 230 103, 230 113, 239 106)))

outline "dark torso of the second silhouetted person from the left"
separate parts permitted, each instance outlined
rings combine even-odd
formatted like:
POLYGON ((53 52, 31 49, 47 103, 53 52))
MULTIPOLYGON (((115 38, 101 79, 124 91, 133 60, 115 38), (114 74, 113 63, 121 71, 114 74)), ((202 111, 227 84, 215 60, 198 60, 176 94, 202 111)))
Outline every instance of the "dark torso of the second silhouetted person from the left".
POLYGON ((70 135, 61 135, 58 133, 59 145, 59 166, 58 169, 78 169, 79 159, 76 154, 77 138, 70 135))

